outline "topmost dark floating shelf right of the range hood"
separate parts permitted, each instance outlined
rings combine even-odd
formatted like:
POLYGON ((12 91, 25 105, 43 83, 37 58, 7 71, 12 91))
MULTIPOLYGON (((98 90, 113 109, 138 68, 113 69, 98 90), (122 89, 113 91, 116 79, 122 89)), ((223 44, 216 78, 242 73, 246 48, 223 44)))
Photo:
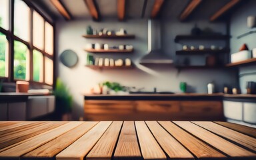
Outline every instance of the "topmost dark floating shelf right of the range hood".
POLYGON ((177 43, 180 40, 186 40, 186 39, 197 39, 197 40, 227 40, 229 39, 229 35, 177 35, 174 39, 174 41, 177 43))

